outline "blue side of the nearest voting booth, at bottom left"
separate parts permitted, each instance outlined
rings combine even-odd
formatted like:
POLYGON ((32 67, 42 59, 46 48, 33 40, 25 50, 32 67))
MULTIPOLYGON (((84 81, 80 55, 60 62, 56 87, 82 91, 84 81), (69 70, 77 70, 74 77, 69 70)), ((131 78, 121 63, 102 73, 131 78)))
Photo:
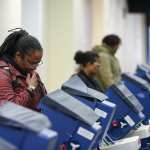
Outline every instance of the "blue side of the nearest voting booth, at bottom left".
POLYGON ((51 135, 51 137, 46 137, 28 130, 0 126, 0 136, 16 145, 19 150, 47 150, 48 147, 54 149, 56 134, 52 131, 51 135))

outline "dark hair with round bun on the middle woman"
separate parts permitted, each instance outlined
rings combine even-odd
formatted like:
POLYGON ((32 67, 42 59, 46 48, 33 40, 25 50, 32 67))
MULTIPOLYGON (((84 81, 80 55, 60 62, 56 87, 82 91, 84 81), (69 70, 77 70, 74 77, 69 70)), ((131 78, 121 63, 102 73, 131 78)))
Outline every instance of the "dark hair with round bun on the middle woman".
POLYGON ((99 58, 99 55, 93 51, 85 51, 81 50, 77 51, 74 56, 74 60, 76 64, 86 65, 87 63, 94 63, 96 58, 99 58))

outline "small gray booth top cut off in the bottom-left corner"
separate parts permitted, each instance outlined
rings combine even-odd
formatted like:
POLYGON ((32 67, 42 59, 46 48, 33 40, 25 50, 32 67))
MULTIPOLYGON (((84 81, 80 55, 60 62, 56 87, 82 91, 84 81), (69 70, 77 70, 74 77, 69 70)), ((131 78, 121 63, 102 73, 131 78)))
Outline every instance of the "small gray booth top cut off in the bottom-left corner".
POLYGON ((0 138, 0 150, 19 150, 19 149, 13 144, 0 138))

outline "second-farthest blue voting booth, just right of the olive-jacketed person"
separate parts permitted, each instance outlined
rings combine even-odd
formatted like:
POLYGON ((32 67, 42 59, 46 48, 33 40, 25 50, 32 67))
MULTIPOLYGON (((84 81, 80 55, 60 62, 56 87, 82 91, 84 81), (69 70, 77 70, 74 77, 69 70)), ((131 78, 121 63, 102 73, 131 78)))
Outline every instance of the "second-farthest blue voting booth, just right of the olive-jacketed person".
POLYGON ((150 84, 146 80, 129 73, 122 74, 122 80, 143 105, 143 113, 145 115, 143 123, 148 124, 150 119, 150 84))

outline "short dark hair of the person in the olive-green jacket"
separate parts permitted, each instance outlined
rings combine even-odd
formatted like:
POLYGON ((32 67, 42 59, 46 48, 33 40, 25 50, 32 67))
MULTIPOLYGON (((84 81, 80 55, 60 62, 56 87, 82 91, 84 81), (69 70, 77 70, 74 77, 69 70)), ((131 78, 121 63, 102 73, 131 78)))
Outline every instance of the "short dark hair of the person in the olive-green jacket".
POLYGON ((109 34, 102 39, 102 42, 110 47, 113 47, 119 45, 121 43, 121 39, 115 34, 109 34))

